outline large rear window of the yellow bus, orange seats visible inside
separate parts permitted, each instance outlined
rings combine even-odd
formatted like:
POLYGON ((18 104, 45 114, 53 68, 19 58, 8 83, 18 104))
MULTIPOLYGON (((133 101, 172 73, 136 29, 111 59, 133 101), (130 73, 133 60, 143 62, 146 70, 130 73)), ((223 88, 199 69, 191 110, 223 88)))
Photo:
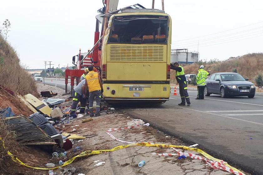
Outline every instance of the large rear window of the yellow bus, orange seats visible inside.
POLYGON ((167 35, 167 17, 115 17, 112 22, 109 43, 167 43, 167 35))

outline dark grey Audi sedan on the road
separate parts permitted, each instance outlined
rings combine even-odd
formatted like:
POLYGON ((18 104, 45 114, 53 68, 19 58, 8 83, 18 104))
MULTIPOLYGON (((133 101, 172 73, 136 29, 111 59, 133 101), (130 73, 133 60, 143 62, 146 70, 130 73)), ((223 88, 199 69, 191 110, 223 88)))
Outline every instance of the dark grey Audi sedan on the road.
POLYGON ((204 95, 219 94, 222 98, 231 96, 255 96, 255 85, 239 73, 214 73, 205 80, 204 95))

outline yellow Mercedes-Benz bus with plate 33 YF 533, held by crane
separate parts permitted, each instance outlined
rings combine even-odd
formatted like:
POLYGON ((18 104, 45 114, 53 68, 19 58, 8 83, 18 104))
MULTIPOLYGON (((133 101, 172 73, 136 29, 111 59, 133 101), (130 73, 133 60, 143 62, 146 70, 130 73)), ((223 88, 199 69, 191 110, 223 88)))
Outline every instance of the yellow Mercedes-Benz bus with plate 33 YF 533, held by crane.
POLYGON ((124 9, 110 17, 101 72, 107 102, 169 100, 171 33, 162 10, 124 9))

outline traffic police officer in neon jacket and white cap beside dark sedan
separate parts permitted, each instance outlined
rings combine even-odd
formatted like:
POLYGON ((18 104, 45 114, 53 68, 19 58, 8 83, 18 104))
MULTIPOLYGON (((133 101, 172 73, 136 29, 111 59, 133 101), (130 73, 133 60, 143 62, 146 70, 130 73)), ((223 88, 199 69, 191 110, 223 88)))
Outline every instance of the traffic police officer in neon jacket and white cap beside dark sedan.
POLYGON ((204 70, 204 65, 201 65, 196 76, 196 84, 198 91, 196 100, 204 99, 205 79, 209 74, 210 73, 204 70))

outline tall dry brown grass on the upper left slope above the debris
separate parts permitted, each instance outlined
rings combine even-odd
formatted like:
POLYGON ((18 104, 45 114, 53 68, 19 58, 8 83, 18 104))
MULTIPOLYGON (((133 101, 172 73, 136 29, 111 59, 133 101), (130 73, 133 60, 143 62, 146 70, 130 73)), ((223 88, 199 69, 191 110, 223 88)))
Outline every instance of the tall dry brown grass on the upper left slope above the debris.
POLYGON ((0 37, 0 86, 14 93, 39 96, 31 75, 20 65, 16 51, 0 37))

